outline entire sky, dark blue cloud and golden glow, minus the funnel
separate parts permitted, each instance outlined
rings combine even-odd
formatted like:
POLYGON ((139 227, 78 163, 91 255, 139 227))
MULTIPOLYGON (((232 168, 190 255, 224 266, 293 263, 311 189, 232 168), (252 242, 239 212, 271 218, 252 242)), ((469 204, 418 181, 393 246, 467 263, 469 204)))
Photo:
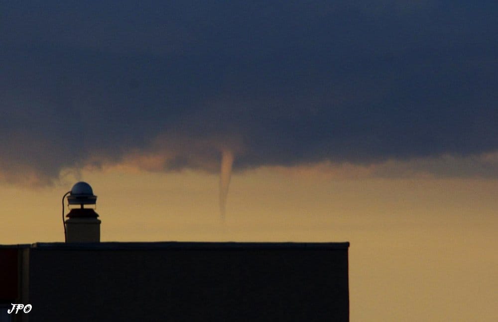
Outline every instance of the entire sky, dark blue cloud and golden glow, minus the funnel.
POLYGON ((85 180, 103 240, 350 241, 351 321, 496 321, 497 9, 2 2, 0 243, 85 180))

